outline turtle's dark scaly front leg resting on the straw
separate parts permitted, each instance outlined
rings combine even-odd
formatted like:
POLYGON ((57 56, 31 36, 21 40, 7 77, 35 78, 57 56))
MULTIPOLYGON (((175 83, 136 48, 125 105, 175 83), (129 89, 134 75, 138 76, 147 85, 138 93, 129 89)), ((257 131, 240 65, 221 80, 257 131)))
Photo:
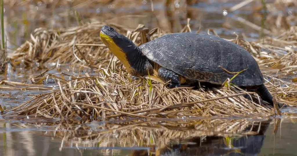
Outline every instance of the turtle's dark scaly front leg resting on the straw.
POLYGON ((164 82, 167 82, 169 80, 171 81, 169 88, 176 88, 181 86, 178 75, 171 70, 161 67, 158 70, 158 76, 164 82))

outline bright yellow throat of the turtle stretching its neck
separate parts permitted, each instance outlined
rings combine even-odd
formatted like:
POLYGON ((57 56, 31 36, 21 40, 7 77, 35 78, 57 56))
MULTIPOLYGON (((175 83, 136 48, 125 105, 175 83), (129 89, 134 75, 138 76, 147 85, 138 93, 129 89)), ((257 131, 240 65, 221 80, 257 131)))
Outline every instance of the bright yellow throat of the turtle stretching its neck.
POLYGON ((100 38, 102 42, 107 46, 107 48, 124 64, 127 72, 129 74, 133 74, 134 70, 128 63, 126 54, 118 45, 116 45, 115 42, 113 42, 113 39, 102 31, 100 31, 100 38))

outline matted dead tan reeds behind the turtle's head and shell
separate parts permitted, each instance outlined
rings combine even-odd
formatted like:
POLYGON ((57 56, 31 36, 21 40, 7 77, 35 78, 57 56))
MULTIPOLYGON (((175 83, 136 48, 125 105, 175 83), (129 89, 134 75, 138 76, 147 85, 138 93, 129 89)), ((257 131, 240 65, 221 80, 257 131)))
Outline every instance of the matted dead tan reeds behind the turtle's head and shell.
MULTIPOLYGON (((149 31, 145 26, 139 25, 137 29, 132 30, 113 23, 102 22, 88 23, 59 31, 38 28, 31 35, 31 40, 26 41, 8 58, 12 60, 13 65, 24 62, 26 67, 32 67, 32 64, 39 62, 42 68, 45 62, 57 62, 78 63, 81 66, 97 69, 109 64, 109 67, 116 70, 116 66, 120 65, 119 68, 123 66, 117 59, 113 59, 110 63, 112 55, 99 37, 101 27, 106 24, 116 27, 117 31, 125 34, 136 45, 165 34, 159 28, 149 31)), ((209 30, 208 34, 211 31, 209 30)), ((189 24, 181 32, 191 32, 189 24)), ((292 47, 297 46, 296 32, 297 26, 292 26, 285 33, 273 39, 264 37, 261 40, 249 42, 244 34, 243 39, 235 34, 235 39, 230 41, 246 48, 255 57, 261 70, 265 70, 264 72, 268 74, 277 73, 274 76, 284 78, 296 74, 297 51, 292 47)))

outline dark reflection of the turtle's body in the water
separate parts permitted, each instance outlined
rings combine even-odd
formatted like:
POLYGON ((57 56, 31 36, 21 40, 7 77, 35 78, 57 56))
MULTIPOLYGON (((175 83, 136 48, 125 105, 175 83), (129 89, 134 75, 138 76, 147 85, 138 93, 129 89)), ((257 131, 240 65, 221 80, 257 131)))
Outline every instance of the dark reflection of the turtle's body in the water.
MULTIPOLYGON (((194 156, 194 155, 257 155, 263 146, 270 121, 248 125, 243 132, 256 132, 255 135, 203 135, 170 143, 155 152, 155 155, 194 156)), ((133 151, 131 155, 149 155, 145 150, 133 151)))

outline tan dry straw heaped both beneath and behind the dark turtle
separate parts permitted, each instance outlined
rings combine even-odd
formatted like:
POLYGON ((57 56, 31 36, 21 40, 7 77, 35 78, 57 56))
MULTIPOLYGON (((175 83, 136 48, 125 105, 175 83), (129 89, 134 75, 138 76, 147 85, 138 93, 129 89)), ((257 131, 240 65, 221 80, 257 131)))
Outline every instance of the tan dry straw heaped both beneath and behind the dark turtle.
MULTIPOLYGON (((161 29, 149 31, 143 25, 139 25, 135 30, 129 30, 112 23, 99 22, 60 31, 36 29, 31 35, 31 40, 26 41, 9 56, 12 64, 17 65, 25 60, 27 67, 30 67, 34 61, 56 62, 59 71, 59 64, 71 63, 73 67, 75 65, 88 67, 93 76, 89 76, 90 73, 71 76, 61 72, 59 73, 61 77, 57 77, 47 73, 49 70, 55 70, 54 68, 48 69, 30 80, 33 84, 38 84, 47 78, 54 78, 59 86, 58 89, 48 94, 37 95, 4 116, 17 114, 59 119, 73 117, 89 119, 91 116, 105 120, 122 116, 153 119, 183 116, 253 117, 274 114, 271 108, 263 105, 257 94, 238 90, 236 86, 210 89, 202 86, 198 90, 193 90, 191 87, 168 89, 163 83, 152 81, 150 91, 147 79, 133 79, 100 40, 98 36, 100 28, 106 24, 126 34, 137 45, 164 34, 161 29), (68 79, 63 75, 67 75, 68 79), (253 101, 245 99, 243 94, 254 97, 253 101)), ((296 27, 292 27, 287 35, 294 34, 295 29, 296 27)), ((190 26, 187 24, 182 32, 189 31, 191 31, 190 26)), ((255 56, 260 67, 287 64, 285 67, 287 73, 295 70, 293 66, 296 63, 296 51, 291 48, 281 49, 287 54, 279 55, 279 48, 266 45, 265 39, 248 42, 240 40, 237 36, 231 41, 247 48, 255 56), (267 52, 260 50, 260 47, 265 47, 267 52)), ((284 75, 282 72, 277 74, 284 75)), ((296 101, 295 83, 288 83, 269 75, 265 76, 265 79, 266 86, 277 101, 288 104, 296 101)))

